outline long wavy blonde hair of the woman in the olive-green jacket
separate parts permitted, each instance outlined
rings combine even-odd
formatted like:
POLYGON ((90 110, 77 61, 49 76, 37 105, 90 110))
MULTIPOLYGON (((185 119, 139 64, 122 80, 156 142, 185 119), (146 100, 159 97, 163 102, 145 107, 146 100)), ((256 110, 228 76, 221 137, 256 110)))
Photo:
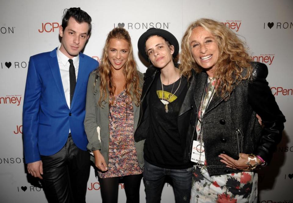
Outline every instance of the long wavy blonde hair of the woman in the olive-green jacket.
POLYGON ((111 70, 111 64, 109 61, 108 56, 108 48, 110 45, 110 39, 124 39, 128 42, 129 45, 129 54, 128 59, 124 65, 123 73, 125 76, 125 92, 126 95, 131 98, 131 101, 135 101, 135 105, 139 106, 139 100, 141 96, 141 88, 139 87, 139 74, 137 72, 137 66, 136 62, 133 57, 133 49, 131 44, 131 38, 127 30, 124 28, 116 27, 113 30, 111 30, 107 36, 105 46, 103 48, 102 53, 102 63, 99 66, 98 70, 96 71, 96 74, 99 73, 99 76, 101 78, 100 83, 100 98, 99 98, 99 106, 102 106, 102 101, 106 100, 107 95, 107 88, 109 90, 109 96, 112 97, 112 102, 110 105, 113 105, 115 102, 114 97, 114 91, 116 89, 116 85, 114 84, 112 80, 112 70, 111 70), (133 96, 130 94, 132 92, 133 96))

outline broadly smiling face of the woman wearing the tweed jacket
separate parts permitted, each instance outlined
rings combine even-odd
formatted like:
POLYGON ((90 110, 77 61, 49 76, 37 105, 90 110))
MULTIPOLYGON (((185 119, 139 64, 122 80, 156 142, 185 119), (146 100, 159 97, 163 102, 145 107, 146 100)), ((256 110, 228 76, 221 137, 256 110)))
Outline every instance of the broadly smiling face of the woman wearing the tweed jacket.
POLYGON ((212 33, 203 27, 195 27, 190 36, 190 47, 195 62, 213 77, 219 59, 219 46, 212 33))

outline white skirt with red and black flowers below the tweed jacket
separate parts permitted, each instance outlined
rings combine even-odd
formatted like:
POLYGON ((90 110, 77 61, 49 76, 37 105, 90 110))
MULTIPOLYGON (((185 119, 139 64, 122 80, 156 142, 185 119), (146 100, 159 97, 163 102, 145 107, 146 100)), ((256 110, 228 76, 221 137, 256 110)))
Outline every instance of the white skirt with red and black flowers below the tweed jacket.
POLYGON ((191 203, 256 203, 258 174, 251 171, 210 177, 194 166, 191 203))

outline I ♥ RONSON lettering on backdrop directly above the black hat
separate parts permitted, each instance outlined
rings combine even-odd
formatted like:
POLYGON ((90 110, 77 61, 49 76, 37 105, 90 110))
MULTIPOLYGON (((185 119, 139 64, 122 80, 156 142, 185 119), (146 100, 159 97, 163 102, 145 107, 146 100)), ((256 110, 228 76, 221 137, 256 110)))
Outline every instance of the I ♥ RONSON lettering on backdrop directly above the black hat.
POLYGON ((128 30, 133 30, 133 29, 136 29, 136 30, 139 30, 139 29, 149 29, 149 28, 159 28, 159 29, 169 29, 169 25, 170 23, 167 23, 167 22, 157 22, 157 23, 152 23, 152 22, 139 22, 139 23, 118 23, 118 24, 115 24, 114 23, 114 28, 115 27, 121 27, 121 28, 125 28, 125 29, 128 29, 128 30))

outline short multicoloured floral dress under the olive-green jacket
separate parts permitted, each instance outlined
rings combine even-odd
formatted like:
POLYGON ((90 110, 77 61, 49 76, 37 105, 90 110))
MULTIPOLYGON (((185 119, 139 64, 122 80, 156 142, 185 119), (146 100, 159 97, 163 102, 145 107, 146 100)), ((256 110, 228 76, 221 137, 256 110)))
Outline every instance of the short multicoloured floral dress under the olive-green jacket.
MULTIPOLYGON (((110 97, 110 103, 112 98, 110 97)), ((109 162, 107 172, 100 172, 100 178, 138 175, 139 167, 133 136, 134 115, 131 98, 125 91, 115 96, 109 112, 109 162)))

